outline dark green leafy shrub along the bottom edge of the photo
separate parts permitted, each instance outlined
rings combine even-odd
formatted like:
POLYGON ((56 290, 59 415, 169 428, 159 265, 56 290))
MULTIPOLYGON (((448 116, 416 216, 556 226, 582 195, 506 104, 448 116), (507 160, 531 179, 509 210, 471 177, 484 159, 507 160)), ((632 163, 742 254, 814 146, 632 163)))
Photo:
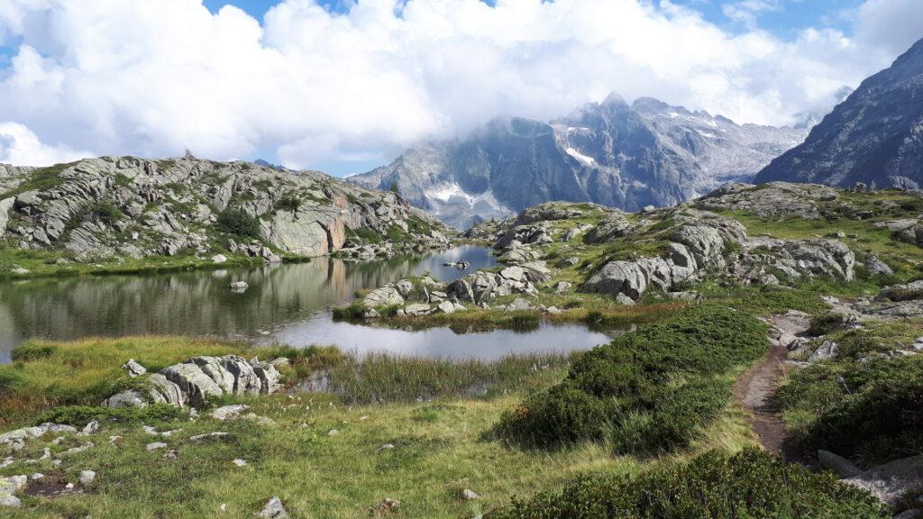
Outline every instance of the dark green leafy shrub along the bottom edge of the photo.
POLYGON ((829 473, 748 449, 705 453, 639 477, 589 476, 515 500, 489 519, 885 519, 881 503, 829 473))

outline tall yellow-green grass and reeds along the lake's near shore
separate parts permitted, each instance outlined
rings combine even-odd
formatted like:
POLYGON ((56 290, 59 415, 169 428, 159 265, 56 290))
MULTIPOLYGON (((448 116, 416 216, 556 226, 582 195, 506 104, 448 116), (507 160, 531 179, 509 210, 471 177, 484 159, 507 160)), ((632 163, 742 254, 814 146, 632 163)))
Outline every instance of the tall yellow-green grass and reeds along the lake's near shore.
POLYGON ((285 356, 285 383, 330 392, 346 404, 416 402, 434 398, 493 398, 544 387, 562 377, 568 355, 509 356, 496 362, 421 359, 375 354, 357 359, 335 347, 295 349, 185 337, 126 337, 19 344, 0 365, 0 428, 30 421, 61 405, 98 405, 137 380, 121 366, 134 358, 154 372, 191 356, 285 356))

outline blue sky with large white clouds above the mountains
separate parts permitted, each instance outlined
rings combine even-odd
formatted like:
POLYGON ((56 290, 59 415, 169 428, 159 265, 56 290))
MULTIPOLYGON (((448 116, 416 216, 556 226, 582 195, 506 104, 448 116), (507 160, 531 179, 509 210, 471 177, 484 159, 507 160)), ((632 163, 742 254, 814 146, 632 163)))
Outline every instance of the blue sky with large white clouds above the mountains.
POLYGON ((920 38, 921 0, 0 0, 0 163, 348 175, 612 91, 791 125, 920 38))

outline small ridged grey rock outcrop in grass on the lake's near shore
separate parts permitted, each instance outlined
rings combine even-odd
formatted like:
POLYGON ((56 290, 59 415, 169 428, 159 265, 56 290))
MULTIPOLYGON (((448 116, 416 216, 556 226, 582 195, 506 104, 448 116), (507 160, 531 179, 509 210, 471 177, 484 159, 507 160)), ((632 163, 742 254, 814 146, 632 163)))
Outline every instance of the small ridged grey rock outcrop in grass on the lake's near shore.
MULTIPOLYGON (((136 363, 137 364, 137 363, 136 363)), ((271 364, 241 356, 196 356, 150 376, 139 375, 139 389, 106 399, 106 407, 147 404, 199 406, 210 397, 266 394, 279 389, 280 374, 271 364)))

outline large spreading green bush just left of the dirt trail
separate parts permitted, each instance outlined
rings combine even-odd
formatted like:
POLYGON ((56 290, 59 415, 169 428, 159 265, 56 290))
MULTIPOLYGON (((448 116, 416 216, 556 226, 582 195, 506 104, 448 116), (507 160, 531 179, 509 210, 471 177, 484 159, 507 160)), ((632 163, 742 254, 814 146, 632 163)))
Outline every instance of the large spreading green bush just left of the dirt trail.
POLYGON ((564 381, 505 413, 497 433, 540 447, 605 438, 618 453, 687 445, 725 407, 722 377, 760 358, 766 333, 730 308, 689 308, 580 356, 564 381))

